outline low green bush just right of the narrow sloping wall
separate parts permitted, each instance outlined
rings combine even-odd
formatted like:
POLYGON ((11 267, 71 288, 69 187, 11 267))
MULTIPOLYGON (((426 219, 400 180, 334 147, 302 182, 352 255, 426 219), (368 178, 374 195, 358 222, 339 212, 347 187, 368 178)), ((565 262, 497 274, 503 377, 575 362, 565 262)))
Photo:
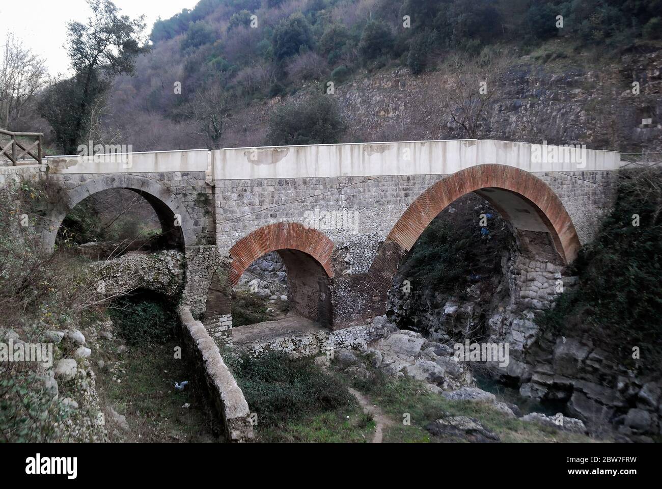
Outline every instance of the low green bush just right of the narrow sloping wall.
POLYGON ((248 406, 258 413, 258 426, 282 426, 291 419, 355 403, 342 383, 312 358, 273 352, 260 358, 245 355, 230 366, 248 406))

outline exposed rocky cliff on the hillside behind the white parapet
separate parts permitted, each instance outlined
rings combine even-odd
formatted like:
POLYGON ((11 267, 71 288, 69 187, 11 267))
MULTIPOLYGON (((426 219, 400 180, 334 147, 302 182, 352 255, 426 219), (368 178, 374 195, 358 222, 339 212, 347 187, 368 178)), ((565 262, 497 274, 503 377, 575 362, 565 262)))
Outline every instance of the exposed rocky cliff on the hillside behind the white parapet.
MULTIPOLYGON (((600 68, 585 68, 581 56, 577 59, 559 65, 522 58, 494 88, 495 103, 479 137, 621 151, 662 147, 662 52, 633 52, 600 68), (633 82, 639 93, 633 93, 633 82), (643 119, 651 123, 644 125, 643 119)), ((441 70, 412 76, 401 68, 336 85, 332 96, 351 128, 344 139, 466 137, 440 105, 446 83, 448 74, 441 70)), ((281 101, 277 97, 238 113, 226 145, 261 144, 269 113, 281 101)))

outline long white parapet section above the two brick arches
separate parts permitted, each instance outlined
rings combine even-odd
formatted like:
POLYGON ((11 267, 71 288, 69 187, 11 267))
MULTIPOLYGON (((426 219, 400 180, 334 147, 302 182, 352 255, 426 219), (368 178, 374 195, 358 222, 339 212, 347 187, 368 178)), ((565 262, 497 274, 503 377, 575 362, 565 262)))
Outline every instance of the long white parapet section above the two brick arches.
POLYGON ((616 170, 620 153, 498 140, 445 140, 225 148, 214 180, 453 174, 479 164, 528 172, 616 170))

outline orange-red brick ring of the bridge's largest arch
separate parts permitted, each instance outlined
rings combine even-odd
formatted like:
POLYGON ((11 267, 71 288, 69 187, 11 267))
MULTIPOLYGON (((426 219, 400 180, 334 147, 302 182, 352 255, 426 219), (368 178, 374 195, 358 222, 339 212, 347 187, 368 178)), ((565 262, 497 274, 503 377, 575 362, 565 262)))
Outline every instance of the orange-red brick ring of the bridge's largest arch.
POLYGON ((404 211, 387 241, 410 250, 432 219, 455 199, 489 187, 512 191, 532 203, 552 235, 561 258, 572 262, 577 257, 579 237, 561 199, 540 178, 526 170, 500 164, 465 168, 432 185, 404 211))

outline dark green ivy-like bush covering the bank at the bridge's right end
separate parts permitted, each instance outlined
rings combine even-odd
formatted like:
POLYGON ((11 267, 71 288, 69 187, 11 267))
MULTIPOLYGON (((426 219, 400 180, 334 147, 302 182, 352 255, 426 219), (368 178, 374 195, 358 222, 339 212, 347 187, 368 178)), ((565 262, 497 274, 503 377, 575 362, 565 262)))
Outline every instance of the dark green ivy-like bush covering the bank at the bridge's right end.
POLYGON ((596 347, 624 362, 632 362, 632 347, 639 347, 643 370, 659 369, 661 235, 662 172, 622 171, 614 209, 575 261, 579 287, 561 294, 540 325, 561 334, 588 333, 596 347))

